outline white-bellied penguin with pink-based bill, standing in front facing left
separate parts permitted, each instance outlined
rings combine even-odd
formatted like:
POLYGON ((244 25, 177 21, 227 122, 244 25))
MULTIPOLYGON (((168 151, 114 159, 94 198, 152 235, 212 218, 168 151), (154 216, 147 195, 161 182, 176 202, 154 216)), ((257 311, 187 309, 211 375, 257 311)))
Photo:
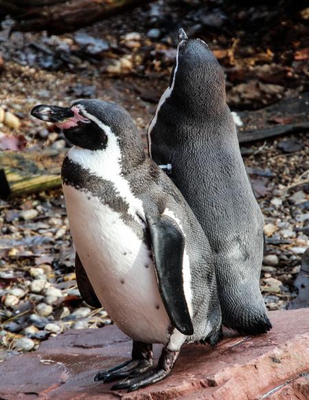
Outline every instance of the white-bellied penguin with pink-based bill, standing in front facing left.
POLYGON ((171 373, 181 346, 221 337, 209 242, 170 178, 146 158, 129 113, 111 102, 40 105, 32 115, 61 128, 73 147, 62 189, 78 253, 80 292, 102 304, 133 339, 132 358, 95 381, 136 390, 171 373), (153 368, 152 344, 163 344, 153 368))

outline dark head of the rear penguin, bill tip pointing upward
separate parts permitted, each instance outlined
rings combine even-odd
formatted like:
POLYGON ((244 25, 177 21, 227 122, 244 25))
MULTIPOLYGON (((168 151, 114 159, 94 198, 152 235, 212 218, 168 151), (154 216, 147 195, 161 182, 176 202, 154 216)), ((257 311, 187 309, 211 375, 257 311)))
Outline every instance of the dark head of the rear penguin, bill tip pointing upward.
POLYGON ((188 38, 179 30, 176 62, 170 78, 172 95, 192 108, 225 104, 225 75, 218 60, 201 39, 188 38), (207 100, 207 104, 205 101, 207 100))

